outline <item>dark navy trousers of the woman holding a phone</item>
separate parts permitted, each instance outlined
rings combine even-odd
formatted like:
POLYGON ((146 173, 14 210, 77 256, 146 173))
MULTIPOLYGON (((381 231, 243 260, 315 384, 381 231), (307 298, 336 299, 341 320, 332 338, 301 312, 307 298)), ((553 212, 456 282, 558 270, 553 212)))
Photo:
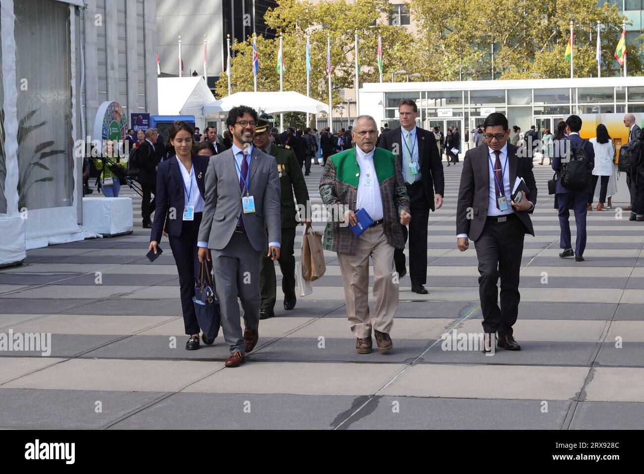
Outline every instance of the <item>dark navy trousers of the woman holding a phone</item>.
MULTIPOLYGON (((173 237, 172 235, 168 237, 172 255, 175 257, 176 270, 179 273, 181 308, 184 314, 186 334, 199 333, 199 323, 197 322, 196 313, 194 313, 193 296, 194 282, 199 272, 197 237, 199 235, 202 215, 202 212, 195 212, 194 221, 184 221, 184 227, 179 237, 173 237)), ((211 264, 209 264, 210 268, 211 264)))

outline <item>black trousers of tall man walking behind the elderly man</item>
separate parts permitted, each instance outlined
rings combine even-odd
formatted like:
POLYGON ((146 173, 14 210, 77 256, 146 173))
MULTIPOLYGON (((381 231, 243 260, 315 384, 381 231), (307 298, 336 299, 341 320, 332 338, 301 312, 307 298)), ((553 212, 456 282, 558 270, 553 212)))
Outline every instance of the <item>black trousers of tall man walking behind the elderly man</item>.
MULTIPOLYGON (((407 184, 407 194, 410 201, 412 220, 409 223, 409 232, 403 226, 405 243, 409 240, 409 276, 412 284, 425 284, 427 282, 427 222, 430 218, 430 202, 425 193, 422 181, 407 184)), ((393 263, 396 272, 404 273, 405 258, 402 249, 393 252, 393 263)))

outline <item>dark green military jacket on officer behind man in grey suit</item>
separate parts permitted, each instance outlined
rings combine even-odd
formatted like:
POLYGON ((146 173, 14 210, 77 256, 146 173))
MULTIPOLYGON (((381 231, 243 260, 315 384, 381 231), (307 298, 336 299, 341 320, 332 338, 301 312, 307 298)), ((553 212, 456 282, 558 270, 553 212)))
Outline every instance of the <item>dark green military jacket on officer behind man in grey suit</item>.
MULTIPOLYGON (((308 200, 307 183, 304 181, 302 168, 299 166, 295 152, 288 145, 286 147, 269 144, 265 153, 275 157, 278 164, 279 184, 281 186, 281 226, 284 228, 296 227, 299 221, 296 219, 296 207, 293 201, 293 194, 300 208, 306 210, 308 200)), ((301 216, 302 219, 305 215, 301 216)))

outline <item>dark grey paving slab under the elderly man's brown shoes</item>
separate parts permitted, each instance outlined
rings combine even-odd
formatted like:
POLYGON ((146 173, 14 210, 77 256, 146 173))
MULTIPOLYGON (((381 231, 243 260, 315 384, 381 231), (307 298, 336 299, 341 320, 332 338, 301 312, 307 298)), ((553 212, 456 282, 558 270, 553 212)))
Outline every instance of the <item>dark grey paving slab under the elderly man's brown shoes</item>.
MULTIPOLYGON (((348 330, 348 328, 347 328, 348 330)), ((261 335, 260 335, 261 342, 261 335)), ((428 346, 424 339, 395 339, 393 349, 386 353, 377 350, 374 339, 374 351, 370 354, 359 354, 355 351, 355 339, 327 337, 324 348, 319 347, 317 338, 289 337, 279 339, 272 344, 252 352, 252 360, 270 360, 272 362, 374 362, 374 363, 409 363, 420 355, 428 346)))

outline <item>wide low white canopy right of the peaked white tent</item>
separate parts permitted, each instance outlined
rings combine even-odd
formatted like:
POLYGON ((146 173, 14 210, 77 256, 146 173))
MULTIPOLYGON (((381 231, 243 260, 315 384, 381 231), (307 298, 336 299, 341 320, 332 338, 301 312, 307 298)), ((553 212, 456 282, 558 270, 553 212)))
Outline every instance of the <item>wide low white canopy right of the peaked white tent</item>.
POLYGON ((292 90, 284 92, 236 92, 204 106, 205 115, 219 115, 231 108, 247 105, 264 114, 328 112, 328 104, 292 90))

